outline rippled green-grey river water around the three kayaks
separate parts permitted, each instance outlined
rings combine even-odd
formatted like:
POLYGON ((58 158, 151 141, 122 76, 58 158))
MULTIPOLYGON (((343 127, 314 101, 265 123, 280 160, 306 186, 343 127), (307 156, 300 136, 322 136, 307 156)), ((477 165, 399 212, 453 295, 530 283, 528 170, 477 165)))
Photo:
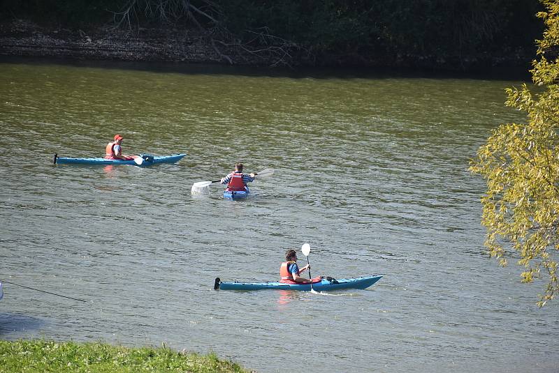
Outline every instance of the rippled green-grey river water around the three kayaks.
POLYGON ((523 120, 503 107, 513 84, 4 61, 0 279, 86 303, 4 284, 0 337, 164 343, 258 372, 557 372, 558 303, 487 257, 467 171, 523 120), (115 133, 125 153, 188 155, 52 165, 115 133), (191 195, 237 161, 276 172, 246 201, 191 195), (212 289, 276 280, 305 242, 312 275, 384 277, 333 296, 212 289))

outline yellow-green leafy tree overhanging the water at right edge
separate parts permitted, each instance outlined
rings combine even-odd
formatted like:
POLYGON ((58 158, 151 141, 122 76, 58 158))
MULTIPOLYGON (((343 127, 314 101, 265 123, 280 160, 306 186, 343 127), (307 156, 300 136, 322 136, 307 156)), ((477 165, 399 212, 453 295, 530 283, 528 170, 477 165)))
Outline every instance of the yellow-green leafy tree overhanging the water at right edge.
POLYGON ((481 222, 489 253, 506 265, 509 251, 516 252, 523 282, 545 274, 540 306, 559 291, 559 3, 542 3, 546 11, 538 16, 546 30, 530 70, 542 91, 532 93, 526 84, 507 89, 507 106, 526 112, 528 123, 500 125, 470 167, 487 182, 481 222))

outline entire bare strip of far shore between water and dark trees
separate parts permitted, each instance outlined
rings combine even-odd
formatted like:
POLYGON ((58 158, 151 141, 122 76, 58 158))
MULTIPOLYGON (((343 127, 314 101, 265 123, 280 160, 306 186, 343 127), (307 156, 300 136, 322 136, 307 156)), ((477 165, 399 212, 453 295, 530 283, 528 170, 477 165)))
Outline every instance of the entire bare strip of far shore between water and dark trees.
POLYGON ((39 26, 27 20, 0 22, 0 57, 4 59, 40 58, 67 61, 122 61, 142 63, 180 63, 182 65, 235 66, 261 70, 298 71, 354 70, 356 73, 427 73, 491 77, 491 75, 528 76, 532 56, 471 57, 448 61, 430 56, 389 56, 376 60, 334 63, 343 56, 330 56, 331 63, 317 66, 303 56, 292 56, 292 63, 277 64, 277 56, 255 54, 231 45, 219 45, 212 35, 177 29, 122 30, 96 27, 83 31, 39 26), (275 67, 274 67, 275 66, 275 67), (504 72, 504 73, 502 73, 504 72))

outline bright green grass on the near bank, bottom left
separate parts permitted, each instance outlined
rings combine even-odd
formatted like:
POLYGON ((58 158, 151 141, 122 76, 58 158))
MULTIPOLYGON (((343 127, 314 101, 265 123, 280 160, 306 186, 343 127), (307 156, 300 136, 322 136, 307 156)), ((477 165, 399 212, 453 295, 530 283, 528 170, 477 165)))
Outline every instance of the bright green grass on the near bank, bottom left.
POLYGON ((1 372, 239 372, 237 363, 219 360, 215 354, 181 353, 167 348, 129 349, 104 343, 52 342, 45 340, 0 341, 1 372))

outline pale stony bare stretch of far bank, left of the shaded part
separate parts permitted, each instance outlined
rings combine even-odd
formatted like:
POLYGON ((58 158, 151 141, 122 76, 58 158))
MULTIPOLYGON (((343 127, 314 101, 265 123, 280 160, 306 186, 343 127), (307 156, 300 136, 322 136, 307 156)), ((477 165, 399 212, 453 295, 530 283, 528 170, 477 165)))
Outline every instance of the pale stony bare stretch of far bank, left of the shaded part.
POLYGON ((122 61, 186 61, 258 64, 251 56, 212 45, 207 35, 173 29, 89 31, 46 28, 29 21, 0 23, 0 55, 122 61), (235 56, 235 60, 233 59, 235 56), (244 63, 243 63, 244 62, 244 63))

